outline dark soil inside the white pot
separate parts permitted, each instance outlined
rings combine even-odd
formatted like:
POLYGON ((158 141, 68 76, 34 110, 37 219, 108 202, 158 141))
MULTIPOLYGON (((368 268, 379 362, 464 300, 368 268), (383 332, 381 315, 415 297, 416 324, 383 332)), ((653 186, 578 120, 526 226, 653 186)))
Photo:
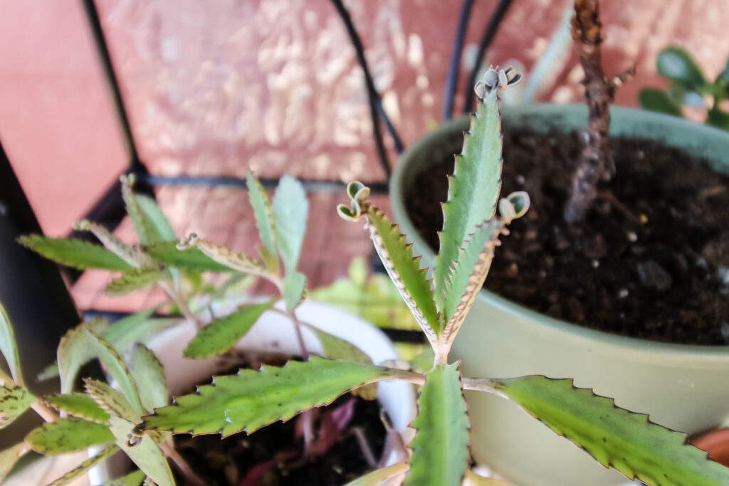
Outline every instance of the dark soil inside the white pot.
MULTIPOLYGON (((371 469, 360 440, 364 439, 375 460, 381 457, 386 430, 380 412, 378 401, 350 393, 327 407, 312 409, 314 441, 308 456, 304 455, 302 415, 225 439, 218 434, 179 434, 174 444, 209 486, 339 486, 371 469)), ((186 484, 177 474, 176 479, 177 484, 186 484)))

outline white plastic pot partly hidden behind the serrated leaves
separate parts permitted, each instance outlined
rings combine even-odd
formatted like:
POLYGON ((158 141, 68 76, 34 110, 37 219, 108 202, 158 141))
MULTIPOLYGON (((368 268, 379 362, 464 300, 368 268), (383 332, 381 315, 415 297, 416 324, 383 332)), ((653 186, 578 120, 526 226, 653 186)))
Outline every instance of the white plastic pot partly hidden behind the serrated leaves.
MULTIPOLYGON (((302 322, 355 344, 375 364, 398 358, 389 338, 380 329, 356 315, 312 301, 306 301, 298 307, 296 315, 302 322)), ((168 391, 172 396, 187 393, 192 385, 210 383, 211 376, 230 368, 230 361, 223 362, 219 358, 183 358, 182 351, 195 334, 195 324, 184 321, 160 333, 148 344, 165 368, 168 391)), ((321 344, 316 335, 305 326, 302 326, 302 334, 307 350, 313 354, 321 354, 321 344)), ((300 354, 292 321, 271 311, 261 315, 246 336, 235 345, 235 349, 287 353, 294 356, 300 354)), ((408 428, 408 425, 416 415, 413 385, 403 381, 380 382, 378 401, 389 415, 393 428, 402 434, 405 444, 410 442, 413 429, 408 428)), ((393 452, 387 458, 387 465, 404 459, 397 452, 393 452)), ((92 485, 99 485, 125 474, 128 468, 129 462, 123 452, 120 452, 101 466, 91 469, 89 479, 92 485)))

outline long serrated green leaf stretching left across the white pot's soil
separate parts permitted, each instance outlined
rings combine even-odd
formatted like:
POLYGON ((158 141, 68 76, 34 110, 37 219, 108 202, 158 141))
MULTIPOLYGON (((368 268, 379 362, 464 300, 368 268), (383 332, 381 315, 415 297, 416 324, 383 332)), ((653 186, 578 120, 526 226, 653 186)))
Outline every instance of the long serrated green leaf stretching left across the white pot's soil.
POLYGON ((317 356, 282 368, 241 369, 238 375, 214 377, 213 385, 200 386, 197 393, 155 410, 144 417, 144 428, 192 435, 250 434, 305 409, 330 404, 352 388, 397 374, 397 370, 317 356))

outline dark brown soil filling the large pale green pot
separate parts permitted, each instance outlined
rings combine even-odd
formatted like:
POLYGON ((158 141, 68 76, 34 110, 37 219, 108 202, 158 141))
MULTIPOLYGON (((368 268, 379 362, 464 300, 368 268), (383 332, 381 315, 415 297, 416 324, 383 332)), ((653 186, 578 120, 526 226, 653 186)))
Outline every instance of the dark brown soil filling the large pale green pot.
MULTIPOLYGON (((729 177, 650 140, 611 141, 617 173, 585 222, 563 211, 582 149, 577 134, 504 133, 502 195, 531 208, 485 288, 540 313, 614 334, 682 344, 729 344, 729 177)), ((453 159, 417 176, 406 206, 438 248, 440 202, 453 159)))

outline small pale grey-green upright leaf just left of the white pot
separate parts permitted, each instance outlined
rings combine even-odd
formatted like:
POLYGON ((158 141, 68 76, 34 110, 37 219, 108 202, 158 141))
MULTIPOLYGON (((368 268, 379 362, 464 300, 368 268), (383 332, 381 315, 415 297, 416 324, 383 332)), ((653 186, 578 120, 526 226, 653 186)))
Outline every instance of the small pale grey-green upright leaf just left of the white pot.
POLYGON ((168 404, 165 370, 147 346, 137 342, 129 356, 129 372, 134 377, 144 409, 151 412, 168 404))

